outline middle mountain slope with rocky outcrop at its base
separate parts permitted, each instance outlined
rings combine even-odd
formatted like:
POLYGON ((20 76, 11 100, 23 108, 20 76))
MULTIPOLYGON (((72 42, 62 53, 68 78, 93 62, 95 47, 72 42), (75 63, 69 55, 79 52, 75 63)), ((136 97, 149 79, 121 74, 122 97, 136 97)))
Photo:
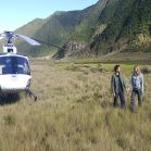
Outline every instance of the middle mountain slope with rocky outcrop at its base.
MULTIPOLYGON (((66 36, 66 42, 63 45, 63 49, 59 49, 54 55, 55 59, 81 55, 83 50, 87 48, 89 41, 91 41, 96 33, 100 30, 98 29, 100 25, 99 15, 105 8, 108 1, 109 0, 99 0, 96 4, 80 11, 80 16, 84 16, 81 17, 83 20, 73 26, 73 30, 66 36)), ((88 53, 87 49, 85 53, 88 53)))

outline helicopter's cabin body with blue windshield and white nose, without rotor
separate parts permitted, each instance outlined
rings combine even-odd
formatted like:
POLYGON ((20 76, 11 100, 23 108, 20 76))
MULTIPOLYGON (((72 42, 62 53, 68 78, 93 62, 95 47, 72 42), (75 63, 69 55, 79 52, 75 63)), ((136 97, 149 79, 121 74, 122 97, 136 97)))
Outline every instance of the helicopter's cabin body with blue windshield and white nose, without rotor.
POLYGON ((0 54, 0 91, 2 93, 26 90, 30 79, 27 56, 15 53, 0 54))

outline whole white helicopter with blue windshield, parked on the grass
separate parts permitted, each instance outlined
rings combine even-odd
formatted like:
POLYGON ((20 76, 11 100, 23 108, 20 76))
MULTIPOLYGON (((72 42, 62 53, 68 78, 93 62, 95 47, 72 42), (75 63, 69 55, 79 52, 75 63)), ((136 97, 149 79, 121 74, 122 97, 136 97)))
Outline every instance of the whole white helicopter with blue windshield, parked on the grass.
POLYGON ((25 91, 37 100, 37 96, 30 90, 32 74, 27 56, 18 54, 13 41, 21 38, 32 46, 40 43, 27 36, 14 32, 3 32, 1 38, 5 39, 3 53, 0 53, 0 95, 18 93, 25 91))

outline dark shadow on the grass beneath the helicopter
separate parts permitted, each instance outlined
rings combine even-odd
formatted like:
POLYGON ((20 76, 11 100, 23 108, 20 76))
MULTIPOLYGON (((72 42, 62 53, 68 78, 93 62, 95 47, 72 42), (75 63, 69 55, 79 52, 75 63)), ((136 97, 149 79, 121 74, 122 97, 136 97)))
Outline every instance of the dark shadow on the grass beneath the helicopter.
POLYGON ((18 93, 0 95, 0 105, 12 104, 21 99, 18 93))

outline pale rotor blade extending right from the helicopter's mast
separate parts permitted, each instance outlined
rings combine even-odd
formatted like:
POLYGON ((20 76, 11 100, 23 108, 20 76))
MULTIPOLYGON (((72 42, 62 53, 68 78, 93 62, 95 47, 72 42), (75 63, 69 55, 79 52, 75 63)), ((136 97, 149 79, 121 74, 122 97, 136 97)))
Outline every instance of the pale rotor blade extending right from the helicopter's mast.
POLYGON ((18 35, 18 34, 15 34, 16 37, 25 40, 26 42, 28 42, 29 45, 33 45, 33 46, 40 46, 39 42, 37 42, 36 40, 27 37, 27 36, 24 36, 24 35, 18 35))

